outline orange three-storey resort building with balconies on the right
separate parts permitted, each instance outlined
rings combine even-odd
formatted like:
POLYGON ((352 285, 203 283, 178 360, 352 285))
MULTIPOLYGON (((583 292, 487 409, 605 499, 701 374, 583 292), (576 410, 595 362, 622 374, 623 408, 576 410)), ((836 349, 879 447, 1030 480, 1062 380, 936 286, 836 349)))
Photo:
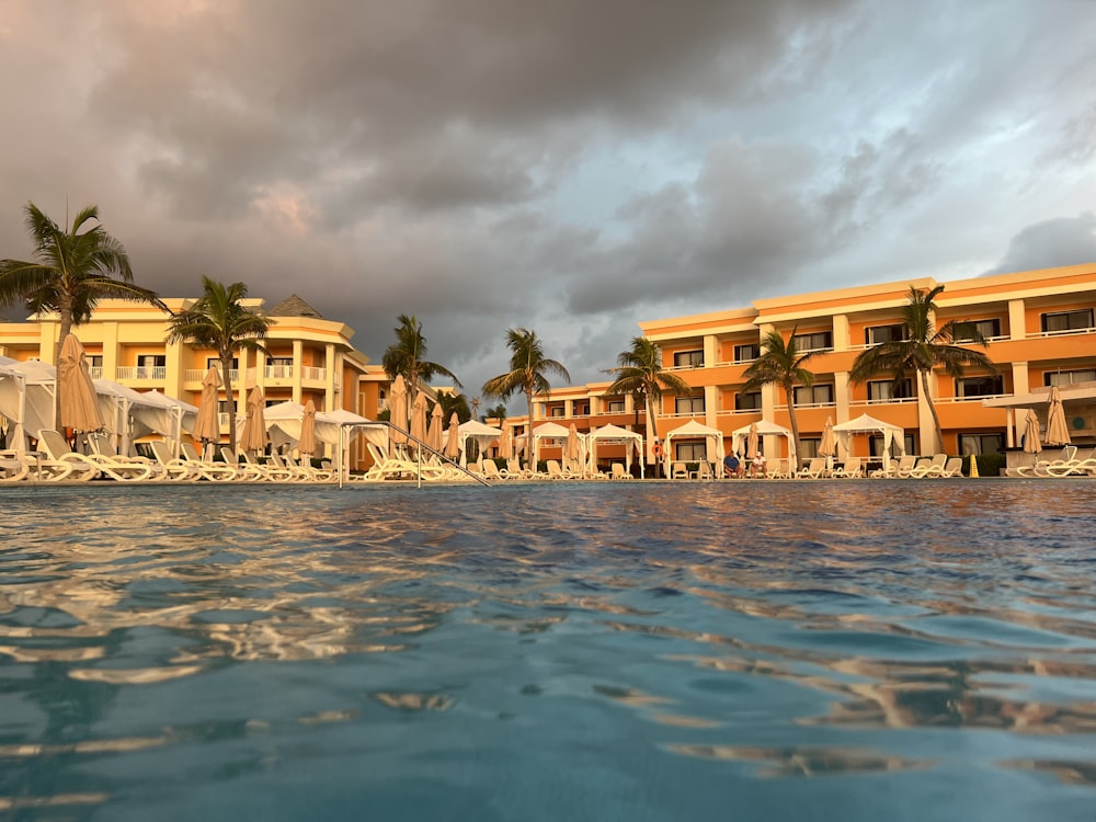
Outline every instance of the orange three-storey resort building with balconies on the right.
MULTIPOLYGON (((654 402, 657 430, 669 452, 665 458, 710 461, 720 435, 724 452, 730 453, 733 432, 753 422, 788 427, 789 400, 796 406, 801 458, 817 455, 827 419, 843 423, 861 414, 901 429, 906 454, 937 450, 932 410, 916 375, 895 386, 886 374, 854 383, 849 370, 860 352, 904 338, 902 308, 909 302, 911 286, 928 289, 938 284, 945 289, 935 300, 936 327, 948 320, 977 323, 989 345, 973 347, 996 366, 995 373, 968 370, 960 379, 941 368, 932 375, 929 392, 940 419, 943 449, 950 455, 1021 454, 1027 410, 1036 411, 1044 429, 1052 386, 1061 388, 1073 444, 1092 448, 1096 444, 1096 263, 943 283, 897 281, 640 322, 643 334, 661 347, 663 367, 690 388, 687 395, 664 393, 654 402), (795 333, 801 351, 815 352, 804 366, 813 373, 814 383, 796 388, 794 398, 772 385, 760 391, 744 390, 744 373, 770 331, 785 339, 795 333), (718 435, 673 436, 692 421, 718 435)), ((614 423, 643 433, 650 452, 646 402, 614 397, 607 393, 608 387, 609 383, 595 383, 552 389, 539 397, 534 406, 535 438, 545 421, 563 427, 573 423, 580 433, 614 423)), ((507 423, 521 434, 527 421, 507 423)), ((881 459, 883 436, 881 431, 854 434, 852 453, 881 459)), ((770 459, 788 457, 789 437, 764 436, 763 443, 770 459)), ((891 446, 891 454, 897 453, 891 446)), ((556 456, 541 449, 543 458, 556 456)), ((609 448, 604 456, 612 458, 609 448)))

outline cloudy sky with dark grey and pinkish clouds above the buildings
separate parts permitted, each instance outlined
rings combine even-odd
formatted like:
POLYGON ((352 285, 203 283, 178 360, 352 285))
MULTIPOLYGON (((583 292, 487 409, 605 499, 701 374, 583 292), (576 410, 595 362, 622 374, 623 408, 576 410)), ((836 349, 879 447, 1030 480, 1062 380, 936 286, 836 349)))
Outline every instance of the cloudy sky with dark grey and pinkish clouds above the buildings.
POLYGON ((161 295, 378 362, 415 315, 470 396, 507 328, 581 383, 640 320, 1096 261, 1091 0, 0 8, 0 256, 95 203, 161 295))

